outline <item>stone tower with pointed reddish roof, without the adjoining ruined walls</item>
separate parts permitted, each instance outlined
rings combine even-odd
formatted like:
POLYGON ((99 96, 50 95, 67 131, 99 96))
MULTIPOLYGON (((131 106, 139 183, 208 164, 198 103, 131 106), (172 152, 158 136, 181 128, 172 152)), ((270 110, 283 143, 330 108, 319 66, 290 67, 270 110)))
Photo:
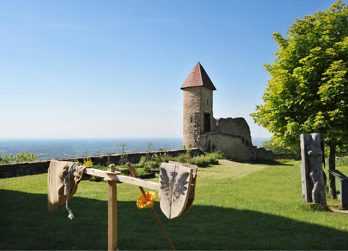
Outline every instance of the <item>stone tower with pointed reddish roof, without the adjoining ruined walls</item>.
POLYGON ((183 145, 205 148, 202 134, 213 129, 214 84, 198 62, 182 84, 183 90, 183 145))

